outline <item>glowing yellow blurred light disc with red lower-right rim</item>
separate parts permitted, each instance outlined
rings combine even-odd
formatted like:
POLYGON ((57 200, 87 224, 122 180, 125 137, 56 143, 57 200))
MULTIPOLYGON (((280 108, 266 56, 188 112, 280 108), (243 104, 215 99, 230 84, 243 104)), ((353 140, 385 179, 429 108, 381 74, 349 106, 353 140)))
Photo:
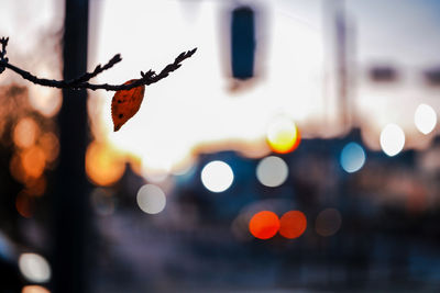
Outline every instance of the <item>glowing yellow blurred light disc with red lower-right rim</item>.
POLYGON ((267 143, 275 153, 290 153, 298 147, 300 140, 298 127, 287 117, 278 117, 268 125, 267 143))

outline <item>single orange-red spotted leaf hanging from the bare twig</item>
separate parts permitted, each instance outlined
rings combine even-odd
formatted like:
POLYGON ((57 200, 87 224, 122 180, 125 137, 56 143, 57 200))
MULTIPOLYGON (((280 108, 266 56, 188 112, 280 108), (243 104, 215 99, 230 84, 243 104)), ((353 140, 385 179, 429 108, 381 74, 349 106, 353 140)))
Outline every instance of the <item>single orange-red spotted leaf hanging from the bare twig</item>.
MULTIPOLYGON (((136 81, 132 79, 124 84, 136 81)), ((111 117, 113 120, 113 131, 117 132, 141 108, 144 99, 145 86, 140 86, 131 90, 117 91, 111 101, 111 117)))

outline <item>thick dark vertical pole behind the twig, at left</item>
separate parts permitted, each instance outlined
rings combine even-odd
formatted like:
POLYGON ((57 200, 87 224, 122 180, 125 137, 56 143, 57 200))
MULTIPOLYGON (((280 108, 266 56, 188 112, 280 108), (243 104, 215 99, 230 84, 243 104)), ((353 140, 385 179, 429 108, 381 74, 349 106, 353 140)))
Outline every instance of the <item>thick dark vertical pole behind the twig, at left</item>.
MULTIPOLYGON (((87 69, 88 0, 66 0, 63 78, 87 69)), ((63 90, 58 115, 61 155, 54 194, 55 293, 87 292, 86 243, 88 185, 85 154, 88 139, 87 91, 63 90)))

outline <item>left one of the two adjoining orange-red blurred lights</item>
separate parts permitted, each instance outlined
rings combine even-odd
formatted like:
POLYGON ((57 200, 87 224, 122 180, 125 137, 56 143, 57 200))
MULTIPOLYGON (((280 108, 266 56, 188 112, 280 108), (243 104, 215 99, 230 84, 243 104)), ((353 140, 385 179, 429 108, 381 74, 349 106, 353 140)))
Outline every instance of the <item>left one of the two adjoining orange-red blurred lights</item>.
POLYGON ((249 230, 258 239, 268 239, 279 229, 279 218, 274 212, 262 211, 252 216, 249 230))

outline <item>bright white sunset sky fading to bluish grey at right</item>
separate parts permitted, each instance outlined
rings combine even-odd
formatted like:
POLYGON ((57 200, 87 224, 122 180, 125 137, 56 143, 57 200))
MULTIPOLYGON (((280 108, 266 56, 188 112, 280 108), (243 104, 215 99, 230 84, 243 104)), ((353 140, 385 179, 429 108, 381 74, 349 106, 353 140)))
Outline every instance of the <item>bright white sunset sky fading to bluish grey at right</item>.
MULTIPOLYGON (((7 0, 0 12, 0 34, 11 37, 10 59, 50 77, 59 75, 56 58, 47 54, 51 43, 44 42, 59 33, 63 8, 57 2, 7 0)), ((158 71, 179 53, 198 47, 182 68, 146 88, 140 112, 118 133, 112 132, 110 117, 113 93, 91 92, 96 138, 135 155, 145 170, 170 171, 200 149, 232 147, 248 156, 264 156, 267 125, 279 116, 295 121, 304 137, 341 135, 328 3, 90 1, 89 69, 117 53, 123 58, 97 82, 122 83, 138 78, 141 70, 158 71), (237 3, 251 3, 258 20, 256 78, 239 87, 230 78, 228 43, 228 15, 237 3)), ((388 123, 403 127, 406 147, 426 146, 437 131, 420 134, 413 117, 420 103, 436 112, 440 105, 439 91, 421 79, 425 69, 440 65, 440 3, 346 0, 345 12, 353 37, 350 78, 356 84, 351 97, 353 126, 362 128, 364 143, 374 149, 380 148, 381 129, 388 123), (374 84, 366 78, 371 66, 382 64, 399 70, 395 83, 374 84)), ((2 76, 0 83, 6 82, 2 76)), ((35 106, 56 113, 56 94, 31 88, 35 106)))

